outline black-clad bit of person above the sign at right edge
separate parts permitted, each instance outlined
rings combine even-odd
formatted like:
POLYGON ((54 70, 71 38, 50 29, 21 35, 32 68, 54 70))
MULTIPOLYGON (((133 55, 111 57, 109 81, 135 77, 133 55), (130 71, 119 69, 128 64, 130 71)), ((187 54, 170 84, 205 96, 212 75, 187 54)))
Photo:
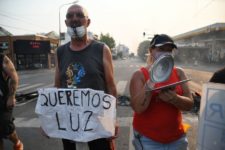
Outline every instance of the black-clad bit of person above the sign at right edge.
POLYGON ((209 82, 214 82, 214 83, 222 83, 225 84, 225 67, 216 71, 209 82))

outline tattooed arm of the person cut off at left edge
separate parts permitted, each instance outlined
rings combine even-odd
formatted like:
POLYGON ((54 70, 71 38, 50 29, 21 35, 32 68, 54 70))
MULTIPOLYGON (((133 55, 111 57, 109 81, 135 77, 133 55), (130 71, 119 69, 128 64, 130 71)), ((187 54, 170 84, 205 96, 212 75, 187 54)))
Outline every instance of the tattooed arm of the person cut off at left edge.
POLYGON ((7 100, 7 107, 14 107, 16 104, 15 96, 19 79, 12 61, 7 56, 4 56, 3 59, 3 70, 6 75, 9 76, 9 95, 7 100))

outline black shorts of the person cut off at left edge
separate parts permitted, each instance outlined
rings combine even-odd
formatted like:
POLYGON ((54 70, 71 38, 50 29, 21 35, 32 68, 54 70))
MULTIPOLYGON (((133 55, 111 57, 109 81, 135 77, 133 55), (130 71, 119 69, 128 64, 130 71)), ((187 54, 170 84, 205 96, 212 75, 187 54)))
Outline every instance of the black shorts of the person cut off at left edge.
POLYGON ((13 110, 12 109, 1 109, 0 110, 0 139, 7 138, 15 130, 13 123, 13 110))

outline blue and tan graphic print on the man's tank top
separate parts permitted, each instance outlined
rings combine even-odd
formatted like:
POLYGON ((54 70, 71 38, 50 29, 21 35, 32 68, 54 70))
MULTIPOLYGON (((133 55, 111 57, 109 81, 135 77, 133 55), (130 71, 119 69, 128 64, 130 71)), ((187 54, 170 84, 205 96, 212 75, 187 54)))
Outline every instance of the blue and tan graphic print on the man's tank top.
POLYGON ((66 69, 66 82, 68 88, 77 88, 85 76, 85 69, 81 63, 71 63, 66 69))

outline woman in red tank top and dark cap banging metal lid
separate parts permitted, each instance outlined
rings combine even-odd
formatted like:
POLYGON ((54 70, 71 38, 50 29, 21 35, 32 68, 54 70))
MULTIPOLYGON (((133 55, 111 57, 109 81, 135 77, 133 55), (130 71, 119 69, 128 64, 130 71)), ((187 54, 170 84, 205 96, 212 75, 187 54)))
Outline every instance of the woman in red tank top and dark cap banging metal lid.
POLYGON ((177 49, 165 34, 155 35, 150 42, 149 61, 136 71, 130 82, 131 107, 134 110, 133 145, 136 150, 186 150, 188 141, 182 124, 181 111, 192 108, 188 83, 174 88, 149 92, 150 89, 187 79, 181 68, 174 67, 169 79, 153 83, 148 70, 164 54, 177 49))

